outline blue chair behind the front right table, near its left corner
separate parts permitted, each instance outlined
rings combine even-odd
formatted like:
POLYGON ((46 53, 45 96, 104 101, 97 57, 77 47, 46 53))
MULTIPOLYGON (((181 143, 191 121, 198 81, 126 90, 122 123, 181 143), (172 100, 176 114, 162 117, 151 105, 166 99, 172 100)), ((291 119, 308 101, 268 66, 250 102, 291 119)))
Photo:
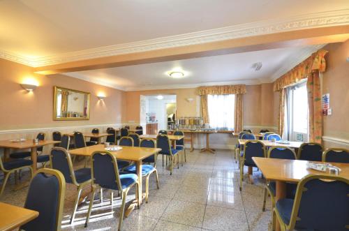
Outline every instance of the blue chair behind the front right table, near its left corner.
MULTIPOLYGON (((268 158, 279 158, 286 160, 296 160, 297 156, 295 151, 288 147, 272 147, 268 151, 268 158)), ((287 183, 286 184, 286 198, 295 198, 297 184, 287 183)), ((272 199, 272 208, 275 207, 275 195, 276 195, 276 182, 269 181, 265 186, 264 199, 262 211, 265 211, 265 202, 267 201, 267 194, 269 193, 272 199)))

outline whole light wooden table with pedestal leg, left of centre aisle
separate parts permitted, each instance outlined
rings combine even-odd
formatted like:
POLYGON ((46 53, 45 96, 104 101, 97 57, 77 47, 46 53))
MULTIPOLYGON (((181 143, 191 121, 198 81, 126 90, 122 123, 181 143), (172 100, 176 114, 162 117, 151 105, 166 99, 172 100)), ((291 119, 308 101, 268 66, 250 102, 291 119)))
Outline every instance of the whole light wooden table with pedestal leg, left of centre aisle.
MULTIPOLYGON (((80 149, 70 150, 69 153, 78 156, 91 156, 94 151, 105 151, 103 144, 97 144, 89 147, 83 147, 80 149)), ((138 181, 140 186, 138 188, 138 200, 133 202, 126 211, 126 217, 133 211, 137 204, 142 204, 142 160, 149 156, 152 156, 161 151, 157 148, 146 148, 146 147, 126 147, 122 146, 122 149, 119 151, 110 151, 117 159, 124 161, 134 161, 137 170, 138 181)))

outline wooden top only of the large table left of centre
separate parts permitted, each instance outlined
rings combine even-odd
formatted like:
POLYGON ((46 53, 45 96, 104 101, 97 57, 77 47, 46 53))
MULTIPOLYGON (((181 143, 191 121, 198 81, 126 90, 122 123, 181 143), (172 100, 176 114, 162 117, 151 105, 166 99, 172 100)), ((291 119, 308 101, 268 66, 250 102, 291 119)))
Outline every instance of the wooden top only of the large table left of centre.
MULTIPOLYGON (((110 151, 117 159, 125 161, 141 161, 144 158, 147 158, 151 155, 154 155, 161 151, 157 148, 146 148, 146 147, 122 147, 119 151, 110 151)), ((91 156, 94 151, 105 151, 104 144, 92 145, 89 147, 83 147, 80 149, 69 150, 69 153, 72 155, 78 156, 91 156)))

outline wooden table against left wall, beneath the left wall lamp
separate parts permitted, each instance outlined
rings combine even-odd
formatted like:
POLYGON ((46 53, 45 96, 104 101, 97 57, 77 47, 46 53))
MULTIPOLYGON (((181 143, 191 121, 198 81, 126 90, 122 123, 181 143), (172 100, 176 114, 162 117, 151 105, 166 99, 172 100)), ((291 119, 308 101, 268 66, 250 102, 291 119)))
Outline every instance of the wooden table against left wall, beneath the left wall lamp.
POLYGON ((4 161, 8 161, 10 157, 10 149, 31 149, 31 161, 33 161, 33 171, 36 171, 36 160, 38 156, 38 147, 42 147, 48 144, 58 144, 60 141, 54 140, 39 140, 38 144, 33 140, 24 140, 22 142, 12 142, 10 140, 0 140, 0 147, 3 147, 4 161))

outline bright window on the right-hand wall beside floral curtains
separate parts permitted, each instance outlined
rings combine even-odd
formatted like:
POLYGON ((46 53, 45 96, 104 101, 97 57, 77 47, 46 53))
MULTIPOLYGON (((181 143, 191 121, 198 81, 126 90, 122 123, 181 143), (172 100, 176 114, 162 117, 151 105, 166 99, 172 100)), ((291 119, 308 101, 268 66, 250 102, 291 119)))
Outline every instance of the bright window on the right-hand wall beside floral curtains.
POLYGON ((288 90, 288 137, 290 140, 308 141, 308 91, 306 82, 288 90))

